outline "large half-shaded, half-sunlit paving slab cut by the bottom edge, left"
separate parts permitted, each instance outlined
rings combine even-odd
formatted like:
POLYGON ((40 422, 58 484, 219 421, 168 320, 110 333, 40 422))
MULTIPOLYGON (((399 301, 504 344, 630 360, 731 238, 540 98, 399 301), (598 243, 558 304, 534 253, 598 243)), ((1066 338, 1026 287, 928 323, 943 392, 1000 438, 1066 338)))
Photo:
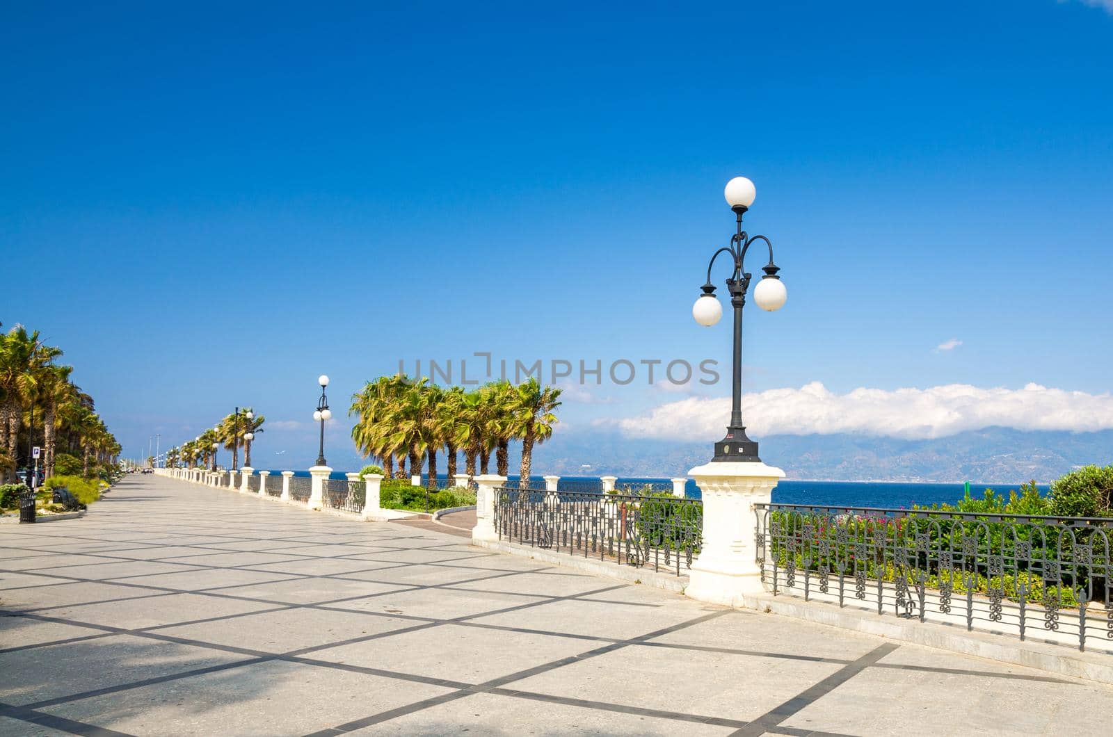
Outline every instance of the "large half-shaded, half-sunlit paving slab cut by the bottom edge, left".
POLYGON ((425 684, 273 661, 43 711, 129 735, 304 735, 445 692, 425 684))

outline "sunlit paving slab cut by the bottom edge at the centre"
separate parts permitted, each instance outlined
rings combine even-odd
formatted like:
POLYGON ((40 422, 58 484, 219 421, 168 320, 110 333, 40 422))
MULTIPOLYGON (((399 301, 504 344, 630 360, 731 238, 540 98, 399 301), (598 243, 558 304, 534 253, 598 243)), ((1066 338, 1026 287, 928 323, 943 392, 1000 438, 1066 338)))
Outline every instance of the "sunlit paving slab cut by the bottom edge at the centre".
POLYGON ((422 711, 396 717, 352 733, 370 735, 406 735, 443 737, 443 735, 479 734, 498 737, 533 735, 644 735, 647 737, 712 737, 729 735, 730 727, 717 727, 690 721, 673 721, 637 714, 623 714, 526 699, 475 694, 433 706, 422 711))

